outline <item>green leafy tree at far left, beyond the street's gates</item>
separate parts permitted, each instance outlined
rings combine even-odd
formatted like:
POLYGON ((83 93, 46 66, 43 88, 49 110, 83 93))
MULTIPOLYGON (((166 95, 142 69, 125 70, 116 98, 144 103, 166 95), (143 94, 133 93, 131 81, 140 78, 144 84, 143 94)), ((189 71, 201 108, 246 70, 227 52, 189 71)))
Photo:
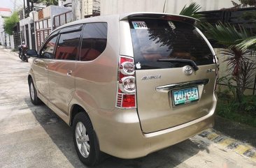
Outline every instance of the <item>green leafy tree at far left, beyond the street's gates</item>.
POLYGON ((13 35, 13 27, 19 22, 19 16, 17 12, 14 12, 13 15, 6 18, 3 23, 3 29, 6 33, 13 35))

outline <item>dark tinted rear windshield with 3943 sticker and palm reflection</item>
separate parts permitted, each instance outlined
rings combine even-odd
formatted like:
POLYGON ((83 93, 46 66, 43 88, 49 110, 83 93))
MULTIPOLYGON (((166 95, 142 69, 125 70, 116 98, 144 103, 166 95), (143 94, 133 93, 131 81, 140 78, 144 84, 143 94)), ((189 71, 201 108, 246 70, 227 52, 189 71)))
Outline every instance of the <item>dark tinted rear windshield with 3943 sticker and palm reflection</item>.
POLYGON ((197 66, 215 62, 204 38, 192 24, 170 20, 130 20, 137 69, 178 68, 187 63, 159 59, 190 59, 197 66))

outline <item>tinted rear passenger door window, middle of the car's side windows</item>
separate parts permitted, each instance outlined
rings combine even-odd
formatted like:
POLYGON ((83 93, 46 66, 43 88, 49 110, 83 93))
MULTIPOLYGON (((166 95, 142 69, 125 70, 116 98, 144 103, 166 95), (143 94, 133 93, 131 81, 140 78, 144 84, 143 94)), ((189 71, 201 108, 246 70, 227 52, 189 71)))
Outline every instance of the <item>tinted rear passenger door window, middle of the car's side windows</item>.
POLYGON ((80 31, 60 34, 55 59, 76 60, 79 44, 80 31))

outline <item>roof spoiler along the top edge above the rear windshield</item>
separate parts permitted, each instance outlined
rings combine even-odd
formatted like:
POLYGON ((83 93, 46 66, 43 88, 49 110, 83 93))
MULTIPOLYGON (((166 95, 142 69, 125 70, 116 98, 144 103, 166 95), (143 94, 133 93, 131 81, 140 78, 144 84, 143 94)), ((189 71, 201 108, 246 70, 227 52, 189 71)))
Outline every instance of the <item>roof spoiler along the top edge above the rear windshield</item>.
POLYGON ((184 15, 173 15, 168 13, 128 13, 124 15, 120 15, 120 20, 130 20, 135 18, 155 18, 160 20, 176 20, 180 22, 187 22, 189 24, 196 25, 199 20, 193 17, 187 17, 184 15))

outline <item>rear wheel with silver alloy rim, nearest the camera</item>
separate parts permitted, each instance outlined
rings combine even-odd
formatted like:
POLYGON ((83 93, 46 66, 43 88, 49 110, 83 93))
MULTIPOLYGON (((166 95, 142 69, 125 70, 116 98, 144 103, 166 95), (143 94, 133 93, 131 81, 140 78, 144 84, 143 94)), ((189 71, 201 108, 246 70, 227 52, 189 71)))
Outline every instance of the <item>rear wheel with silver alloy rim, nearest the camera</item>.
POLYGON ((73 142, 78 158, 87 166, 95 166, 101 162, 99 142, 92 122, 85 112, 76 114, 73 119, 73 142))

